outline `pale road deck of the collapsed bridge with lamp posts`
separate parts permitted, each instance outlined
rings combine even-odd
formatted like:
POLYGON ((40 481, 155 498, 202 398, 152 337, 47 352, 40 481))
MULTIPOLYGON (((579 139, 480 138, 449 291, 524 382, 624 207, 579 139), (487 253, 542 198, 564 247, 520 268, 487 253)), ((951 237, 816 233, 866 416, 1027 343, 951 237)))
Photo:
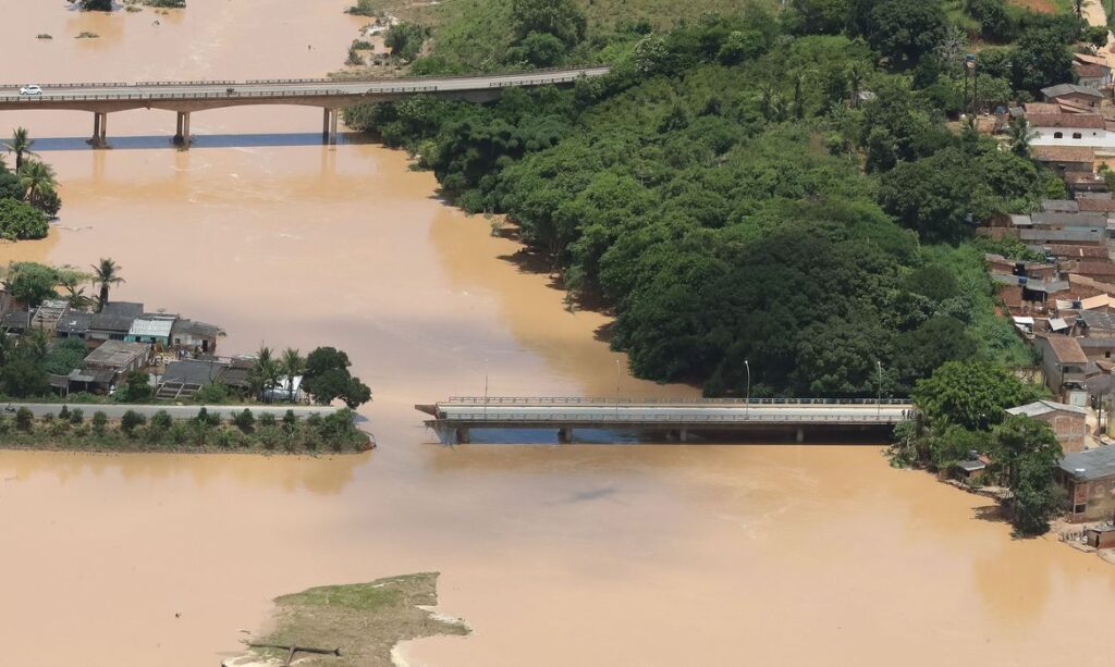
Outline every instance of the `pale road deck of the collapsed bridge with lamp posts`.
POLYGON ((530 423, 894 423, 910 404, 884 405, 483 405, 438 403, 437 416, 458 422, 530 423))

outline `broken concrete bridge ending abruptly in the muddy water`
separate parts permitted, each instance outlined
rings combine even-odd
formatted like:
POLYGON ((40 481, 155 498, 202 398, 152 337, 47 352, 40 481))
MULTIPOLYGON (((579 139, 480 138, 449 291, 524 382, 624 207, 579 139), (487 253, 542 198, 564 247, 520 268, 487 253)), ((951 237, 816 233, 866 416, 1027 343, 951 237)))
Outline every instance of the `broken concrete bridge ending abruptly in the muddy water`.
POLYGON ((667 433, 686 442, 695 432, 793 433, 803 442, 809 431, 886 435, 913 412, 905 400, 691 399, 640 400, 581 398, 459 396, 415 405, 434 419, 442 442, 469 442, 473 429, 556 429, 569 442, 574 429, 620 429, 667 433))

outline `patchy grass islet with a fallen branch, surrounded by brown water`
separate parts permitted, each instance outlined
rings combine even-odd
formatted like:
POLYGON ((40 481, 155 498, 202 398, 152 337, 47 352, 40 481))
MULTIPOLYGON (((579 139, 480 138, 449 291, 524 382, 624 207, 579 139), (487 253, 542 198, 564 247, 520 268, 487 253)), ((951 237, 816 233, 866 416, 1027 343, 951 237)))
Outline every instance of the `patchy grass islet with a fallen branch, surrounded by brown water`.
MULTIPOLYGON (((299 653, 299 665, 390 667, 399 643, 434 635, 467 635, 463 621, 439 618, 418 605, 437 604, 437 572, 377 579, 368 583, 321 586, 275 598, 274 629, 251 644, 340 649, 340 657, 299 653)), ((288 650, 253 648, 256 656, 224 665, 284 664, 288 650), (278 663, 274 663, 278 660, 278 663)))

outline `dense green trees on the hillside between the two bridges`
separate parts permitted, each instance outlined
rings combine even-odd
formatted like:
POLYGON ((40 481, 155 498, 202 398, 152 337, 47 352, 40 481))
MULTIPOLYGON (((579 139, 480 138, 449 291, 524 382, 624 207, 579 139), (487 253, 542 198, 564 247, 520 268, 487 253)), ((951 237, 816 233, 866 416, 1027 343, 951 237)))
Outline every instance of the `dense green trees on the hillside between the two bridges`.
POLYGON ((591 23, 572 0, 465 3, 414 72, 612 72, 346 120, 419 156, 466 210, 507 214, 568 290, 613 310, 643 377, 739 395, 747 362, 752 395, 906 395, 948 361, 1030 360, 981 265, 1005 248, 972 227, 1064 186, 1025 143, 948 124, 1065 80, 1086 36, 991 0, 963 16, 990 22, 990 6, 1010 29, 973 98, 969 35, 939 0, 750 3, 665 31, 591 23))

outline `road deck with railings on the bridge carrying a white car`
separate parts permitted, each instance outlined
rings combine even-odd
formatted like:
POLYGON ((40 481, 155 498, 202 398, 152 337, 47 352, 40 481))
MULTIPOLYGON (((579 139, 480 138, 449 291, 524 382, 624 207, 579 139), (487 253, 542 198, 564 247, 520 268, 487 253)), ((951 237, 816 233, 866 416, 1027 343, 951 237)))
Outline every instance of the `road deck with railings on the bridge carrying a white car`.
MULTIPOLYGON (((421 79, 380 79, 375 81, 316 80, 302 82, 166 82, 153 84, 72 84, 60 87, 45 87, 40 96, 19 95, 19 87, 36 81, 0 85, 0 98, 14 98, 29 107, 48 106, 51 101, 72 100, 77 97, 105 99, 182 99, 195 100, 242 97, 289 96, 362 96, 407 91, 468 91, 489 90, 505 86, 541 86, 569 82, 578 77, 599 77, 608 73, 608 67, 585 67, 563 70, 534 71, 479 77, 438 77, 421 79), (229 88, 234 92, 230 95, 229 88)), ((3 101, 12 101, 4 99, 3 101)))

